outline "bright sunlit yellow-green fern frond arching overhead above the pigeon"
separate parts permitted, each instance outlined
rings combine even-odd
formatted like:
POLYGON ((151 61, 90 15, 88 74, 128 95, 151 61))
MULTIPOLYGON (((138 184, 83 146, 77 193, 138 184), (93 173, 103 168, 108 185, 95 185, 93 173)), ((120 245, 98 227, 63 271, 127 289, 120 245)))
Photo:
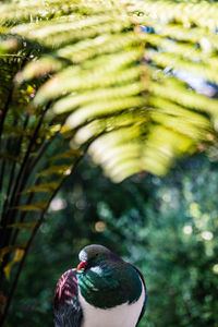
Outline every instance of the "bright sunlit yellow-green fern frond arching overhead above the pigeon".
POLYGON ((72 147, 94 141, 89 153, 112 180, 142 170, 165 174, 174 158, 216 138, 218 101, 206 82, 218 82, 217 3, 64 0, 29 5, 20 0, 2 9, 5 32, 40 48, 16 83, 46 78, 33 106, 49 106, 48 121, 63 114, 76 132, 72 147), (205 89, 181 81, 180 73, 203 78, 205 89), (120 134, 130 131, 135 131, 128 141, 134 150, 126 153, 120 134))

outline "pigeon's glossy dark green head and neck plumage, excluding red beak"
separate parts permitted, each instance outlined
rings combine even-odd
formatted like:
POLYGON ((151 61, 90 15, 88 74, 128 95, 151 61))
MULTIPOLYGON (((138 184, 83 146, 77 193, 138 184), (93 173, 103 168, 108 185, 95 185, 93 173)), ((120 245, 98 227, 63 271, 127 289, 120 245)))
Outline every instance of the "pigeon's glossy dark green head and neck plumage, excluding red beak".
POLYGON ((87 261, 86 269, 77 271, 82 296, 100 308, 137 301, 142 293, 142 281, 134 267, 108 249, 96 246, 80 254, 81 259, 87 261))

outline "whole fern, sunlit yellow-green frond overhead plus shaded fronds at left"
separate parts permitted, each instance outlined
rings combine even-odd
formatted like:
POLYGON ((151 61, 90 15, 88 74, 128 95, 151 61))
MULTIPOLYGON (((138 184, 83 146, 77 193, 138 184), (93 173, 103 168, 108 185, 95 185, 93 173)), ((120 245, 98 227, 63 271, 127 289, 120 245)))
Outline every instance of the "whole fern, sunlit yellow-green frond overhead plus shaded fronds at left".
POLYGON ((216 148, 218 5, 11 0, 0 11, 1 272, 16 265, 0 293, 7 314, 35 233, 84 150, 120 182, 216 148))

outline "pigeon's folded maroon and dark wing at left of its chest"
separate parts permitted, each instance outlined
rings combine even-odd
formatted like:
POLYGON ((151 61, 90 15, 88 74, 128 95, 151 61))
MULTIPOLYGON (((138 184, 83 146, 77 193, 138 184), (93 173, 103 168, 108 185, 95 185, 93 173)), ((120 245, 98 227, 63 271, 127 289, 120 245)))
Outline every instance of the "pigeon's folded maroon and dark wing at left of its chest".
POLYGON ((65 271, 59 279, 53 299, 55 327, 81 327, 83 317, 78 301, 76 269, 65 271))

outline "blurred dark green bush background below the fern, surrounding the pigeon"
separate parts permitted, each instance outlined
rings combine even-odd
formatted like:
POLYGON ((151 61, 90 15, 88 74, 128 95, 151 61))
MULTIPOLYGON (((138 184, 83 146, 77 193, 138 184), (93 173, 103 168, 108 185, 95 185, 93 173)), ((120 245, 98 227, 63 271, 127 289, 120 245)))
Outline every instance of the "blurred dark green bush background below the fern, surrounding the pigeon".
POLYGON ((217 181, 218 165, 202 156, 164 179, 142 173, 121 184, 83 160, 50 205, 8 326, 53 326, 59 277, 77 265, 84 245, 100 243, 144 274, 148 302, 141 327, 217 327, 217 181))

